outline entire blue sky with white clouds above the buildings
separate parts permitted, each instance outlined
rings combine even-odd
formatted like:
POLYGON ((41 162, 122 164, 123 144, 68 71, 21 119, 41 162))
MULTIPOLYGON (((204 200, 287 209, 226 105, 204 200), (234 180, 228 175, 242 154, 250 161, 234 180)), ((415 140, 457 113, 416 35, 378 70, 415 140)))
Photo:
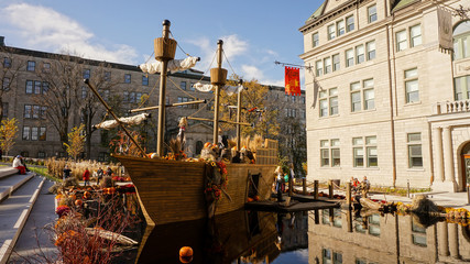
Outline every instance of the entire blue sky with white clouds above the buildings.
MULTIPOLYGON (((217 40, 223 40, 229 75, 284 86, 284 68, 274 62, 303 64, 298 29, 321 2, 0 0, 0 35, 9 46, 139 65, 151 56, 167 19, 179 46, 201 57, 196 69, 209 68, 217 40)), ((176 58, 184 57, 177 50, 176 58)))

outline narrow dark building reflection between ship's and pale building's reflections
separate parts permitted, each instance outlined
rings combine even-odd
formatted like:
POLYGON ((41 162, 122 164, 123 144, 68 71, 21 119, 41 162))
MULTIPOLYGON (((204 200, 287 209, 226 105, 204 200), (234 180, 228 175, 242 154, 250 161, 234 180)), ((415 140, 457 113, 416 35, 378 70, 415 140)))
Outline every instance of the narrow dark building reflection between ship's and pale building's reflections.
POLYGON ((283 219, 282 251, 308 248, 308 212, 288 213, 283 219))

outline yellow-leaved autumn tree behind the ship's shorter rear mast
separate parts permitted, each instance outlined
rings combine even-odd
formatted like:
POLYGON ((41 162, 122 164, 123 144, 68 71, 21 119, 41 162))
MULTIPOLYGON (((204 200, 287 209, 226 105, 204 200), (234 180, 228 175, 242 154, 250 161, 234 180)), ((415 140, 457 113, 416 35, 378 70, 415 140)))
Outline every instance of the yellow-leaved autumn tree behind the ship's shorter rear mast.
MULTIPOLYGON (((238 86, 239 76, 233 75, 232 80, 227 85, 238 86)), ((241 133, 243 136, 254 136, 255 134, 263 138, 276 136, 280 132, 277 121, 277 109, 269 99, 269 87, 258 82, 256 79, 243 81, 242 90, 242 114, 241 122, 251 125, 242 125, 241 133)), ((220 92, 220 117, 221 120, 234 121, 237 117, 237 95, 229 96, 225 90, 220 92)), ((234 130, 234 124, 221 123, 222 130, 234 130)))

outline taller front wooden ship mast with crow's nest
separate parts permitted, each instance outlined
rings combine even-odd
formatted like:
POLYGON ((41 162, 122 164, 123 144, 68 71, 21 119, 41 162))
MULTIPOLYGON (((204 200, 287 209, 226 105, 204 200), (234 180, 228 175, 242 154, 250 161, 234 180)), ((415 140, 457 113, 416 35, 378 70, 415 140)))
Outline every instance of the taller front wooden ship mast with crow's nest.
POLYGON ((168 61, 175 57, 176 41, 168 38, 171 22, 163 21, 162 37, 154 40, 155 59, 162 62, 162 72, 160 73, 160 98, 159 98, 159 131, 156 139, 156 154, 163 156, 163 140, 165 136, 165 99, 166 99, 166 72, 168 61))

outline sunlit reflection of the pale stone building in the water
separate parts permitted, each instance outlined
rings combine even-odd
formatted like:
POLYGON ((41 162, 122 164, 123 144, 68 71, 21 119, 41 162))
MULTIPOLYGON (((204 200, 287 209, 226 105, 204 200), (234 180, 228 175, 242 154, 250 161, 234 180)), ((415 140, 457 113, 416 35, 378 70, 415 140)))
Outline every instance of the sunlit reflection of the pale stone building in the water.
POLYGON ((470 262, 470 228, 439 222, 425 228, 411 216, 309 212, 309 263, 470 262), (353 219, 353 220, 351 220, 353 219))

